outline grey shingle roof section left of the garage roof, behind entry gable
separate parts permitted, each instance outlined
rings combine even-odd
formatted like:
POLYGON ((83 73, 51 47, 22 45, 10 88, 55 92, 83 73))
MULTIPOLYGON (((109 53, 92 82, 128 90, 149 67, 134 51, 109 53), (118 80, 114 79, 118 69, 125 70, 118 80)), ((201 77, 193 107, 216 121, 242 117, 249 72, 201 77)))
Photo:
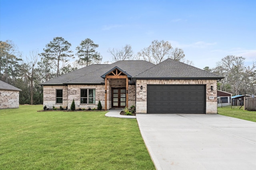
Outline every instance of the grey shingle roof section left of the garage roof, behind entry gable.
POLYGON ((40 85, 63 85, 63 84, 100 84, 104 83, 101 77, 114 67, 118 67, 132 77, 153 67, 148 61, 124 60, 112 64, 92 64, 65 75, 56 77, 40 85))

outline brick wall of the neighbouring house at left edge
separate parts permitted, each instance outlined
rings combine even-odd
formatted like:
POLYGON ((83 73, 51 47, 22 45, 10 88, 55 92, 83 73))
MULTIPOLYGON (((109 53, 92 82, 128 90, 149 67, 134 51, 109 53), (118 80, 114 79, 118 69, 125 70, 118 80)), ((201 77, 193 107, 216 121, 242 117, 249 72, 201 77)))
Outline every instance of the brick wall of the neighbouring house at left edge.
POLYGON ((0 109, 18 108, 20 91, 0 90, 0 109))

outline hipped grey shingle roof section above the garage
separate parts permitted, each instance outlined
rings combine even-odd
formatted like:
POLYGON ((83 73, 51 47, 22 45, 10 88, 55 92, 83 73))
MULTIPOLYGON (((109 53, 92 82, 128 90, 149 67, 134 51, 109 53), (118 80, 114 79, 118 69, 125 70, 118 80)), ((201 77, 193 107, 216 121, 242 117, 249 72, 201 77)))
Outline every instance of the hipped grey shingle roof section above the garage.
POLYGON ((191 65, 166 59, 154 67, 135 76, 136 79, 221 79, 218 75, 209 73, 191 65))

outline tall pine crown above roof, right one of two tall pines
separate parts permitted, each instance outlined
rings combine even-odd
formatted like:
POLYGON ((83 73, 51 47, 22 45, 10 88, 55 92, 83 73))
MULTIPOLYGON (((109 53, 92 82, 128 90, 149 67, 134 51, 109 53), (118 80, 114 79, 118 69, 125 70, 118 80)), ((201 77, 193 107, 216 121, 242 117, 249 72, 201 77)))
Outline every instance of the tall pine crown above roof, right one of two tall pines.
POLYGON ((102 56, 95 51, 97 47, 99 47, 99 45, 95 44, 90 38, 81 41, 80 45, 76 47, 76 50, 78 50, 76 55, 79 57, 78 63, 88 66, 91 63, 101 62, 102 56))

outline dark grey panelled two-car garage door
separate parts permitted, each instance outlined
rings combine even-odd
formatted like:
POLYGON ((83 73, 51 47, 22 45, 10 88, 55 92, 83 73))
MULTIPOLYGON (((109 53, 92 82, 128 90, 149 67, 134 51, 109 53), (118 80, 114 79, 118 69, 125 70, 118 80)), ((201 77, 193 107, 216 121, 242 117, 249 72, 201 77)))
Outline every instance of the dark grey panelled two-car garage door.
POLYGON ((147 85, 147 113, 206 113, 206 86, 147 85))

